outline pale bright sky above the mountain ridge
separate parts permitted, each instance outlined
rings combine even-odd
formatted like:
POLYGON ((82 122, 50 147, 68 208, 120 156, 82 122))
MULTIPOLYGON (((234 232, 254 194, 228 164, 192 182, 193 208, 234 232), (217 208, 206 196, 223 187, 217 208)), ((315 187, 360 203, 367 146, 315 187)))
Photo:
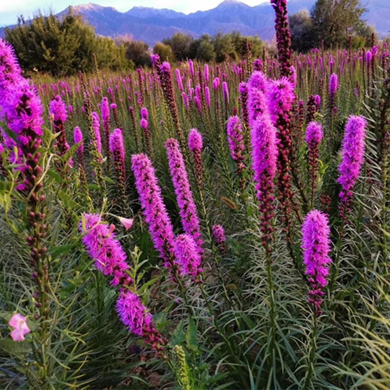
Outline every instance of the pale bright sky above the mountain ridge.
MULTIPOLYGON (((118 11, 128 11, 135 5, 155 8, 170 8, 186 14, 198 10, 207 10, 217 6, 222 0, 95 0, 94 3, 111 6, 118 11)), ((267 0, 241 0, 248 5, 257 5, 267 0)), ((0 26, 15 24, 18 15, 29 19, 35 11, 42 12, 52 9, 55 13, 62 11, 68 5, 78 5, 89 2, 88 0, 0 0, 0 26)))

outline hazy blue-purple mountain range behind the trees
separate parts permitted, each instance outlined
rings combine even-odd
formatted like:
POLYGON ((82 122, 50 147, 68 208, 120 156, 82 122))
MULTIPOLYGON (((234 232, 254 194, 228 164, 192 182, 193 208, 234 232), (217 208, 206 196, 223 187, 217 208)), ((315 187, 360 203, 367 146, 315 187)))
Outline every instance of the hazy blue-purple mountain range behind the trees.
MULTIPOLYGON (((289 0, 288 10, 290 14, 302 9, 310 10, 314 3, 315 0, 289 0)), ((388 35, 390 0, 366 0, 363 3, 367 8, 363 18, 378 33, 388 35)), ((58 15, 67 12, 68 9, 65 9, 58 15)), ((269 2, 251 7, 238 0, 224 0, 213 9, 188 15, 166 8, 149 7, 133 7, 127 12, 119 12, 113 7, 94 3, 73 6, 72 12, 81 15, 100 35, 130 35, 149 45, 169 38, 176 32, 199 37, 202 34, 214 35, 218 31, 240 31, 244 35, 258 35, 266 40, 273 39, 274 36, 274 14, 269 2)), ((3 29, 0 29, 0 36, 3 34, 1 30, 3 29)))

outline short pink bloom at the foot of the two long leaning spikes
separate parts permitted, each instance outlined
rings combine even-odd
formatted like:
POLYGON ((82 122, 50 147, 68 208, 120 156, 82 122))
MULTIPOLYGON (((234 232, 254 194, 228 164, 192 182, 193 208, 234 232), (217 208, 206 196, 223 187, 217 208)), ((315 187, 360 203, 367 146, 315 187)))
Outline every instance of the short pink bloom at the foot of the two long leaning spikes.
POLYGON ((175 240, 175 255, 180 265, 181 276, 189 275, 196 282, 202 272, 201 256, 199 254, 194 238, 188 234, 180 234, 175 240))

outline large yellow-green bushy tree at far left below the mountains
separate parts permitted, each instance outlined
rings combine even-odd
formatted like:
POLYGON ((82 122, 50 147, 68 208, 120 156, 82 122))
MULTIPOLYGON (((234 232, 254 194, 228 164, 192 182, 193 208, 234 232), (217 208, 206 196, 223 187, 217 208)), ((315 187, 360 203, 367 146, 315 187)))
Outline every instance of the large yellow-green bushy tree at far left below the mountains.
POLYGON ((63 18, 52 13, 39 14, 28 23, 19 18, 16 27, 5 29, 5 39, 14 46, 25 71, 54 76, 88 72, 94 68, 94 54, 99 68, 128 67, 124 48, 110 38, 97 36, 80 16, 72 15, 71 9, 63 18))

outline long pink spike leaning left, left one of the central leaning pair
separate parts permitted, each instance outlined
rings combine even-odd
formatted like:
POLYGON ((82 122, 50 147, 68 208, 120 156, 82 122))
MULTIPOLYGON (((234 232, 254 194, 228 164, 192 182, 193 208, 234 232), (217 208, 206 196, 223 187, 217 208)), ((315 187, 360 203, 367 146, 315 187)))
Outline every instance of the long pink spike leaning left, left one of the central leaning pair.
POLYGON ((155 169, 144 154, 132 156, 132 170, 145 221, 148 224, 155 249, 165 262, 174 266, 174 230, 158 186, 155 169))

